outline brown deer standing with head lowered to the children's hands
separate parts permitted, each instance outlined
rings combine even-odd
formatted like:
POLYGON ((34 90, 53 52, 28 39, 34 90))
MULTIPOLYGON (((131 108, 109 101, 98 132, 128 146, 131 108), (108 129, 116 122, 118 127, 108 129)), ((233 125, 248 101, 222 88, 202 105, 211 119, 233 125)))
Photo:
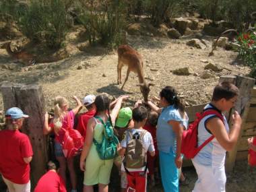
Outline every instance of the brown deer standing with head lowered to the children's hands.
POLYGON ((143 61, 141 55, 135 51, 131 46, 123 44, 119 46, 117 49, 118 53, 118 65, 117 65, 117 84, 121 84, 121 71, 123 65, 127 65, 127 73, 125 77, 125 82, 123 82, 123 86, 121 87, 121 90, 123 90, 123 87, 125 86, 125 83, 127 82, 127 79, 129 77, 130 71, 133 71, 134 73, 137 73, 139 77, 139 86, 140 91, 143 95, 143 98, 145 101, 148 101, 148 94, 150 93, 150 86, 154 86, 154 84, 148 84, 145 81, 144 78, 144 72, 143 72, 143 61))

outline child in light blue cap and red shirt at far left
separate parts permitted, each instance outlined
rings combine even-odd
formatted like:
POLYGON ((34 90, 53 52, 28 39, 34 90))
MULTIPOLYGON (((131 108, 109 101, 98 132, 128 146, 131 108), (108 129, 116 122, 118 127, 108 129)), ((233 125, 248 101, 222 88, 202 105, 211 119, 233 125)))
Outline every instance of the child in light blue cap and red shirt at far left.
POLYGON ((30 162, 33 151, 30 139, 19 129, 24 115, 18 107, 5 112, 5 129, 0 131, 0 173, 9 192, 30 192, 30 162))

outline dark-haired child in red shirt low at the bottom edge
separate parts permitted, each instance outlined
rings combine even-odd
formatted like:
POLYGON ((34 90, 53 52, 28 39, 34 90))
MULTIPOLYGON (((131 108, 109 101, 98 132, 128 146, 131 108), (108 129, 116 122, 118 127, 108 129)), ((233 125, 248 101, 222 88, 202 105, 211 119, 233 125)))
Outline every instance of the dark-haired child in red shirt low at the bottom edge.
POLYGON ((67 192, 65 183, 58 174, 59 162, 49 161, 46 165, 46 170, 46 174, 39 179, 34 192, 67 192))

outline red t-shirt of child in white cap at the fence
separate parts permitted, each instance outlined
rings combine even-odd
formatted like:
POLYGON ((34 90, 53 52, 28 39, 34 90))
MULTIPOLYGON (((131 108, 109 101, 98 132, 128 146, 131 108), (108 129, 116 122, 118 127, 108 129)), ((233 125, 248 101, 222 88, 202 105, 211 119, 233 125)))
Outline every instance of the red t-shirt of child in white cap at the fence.
POLYGON ((94 117, 96 114, 96 110, 89 110, 88 112, 82 114, 78 118, 77 130, 81 133, 81 135, 86 138, 86 127, 89 119, 94 117))

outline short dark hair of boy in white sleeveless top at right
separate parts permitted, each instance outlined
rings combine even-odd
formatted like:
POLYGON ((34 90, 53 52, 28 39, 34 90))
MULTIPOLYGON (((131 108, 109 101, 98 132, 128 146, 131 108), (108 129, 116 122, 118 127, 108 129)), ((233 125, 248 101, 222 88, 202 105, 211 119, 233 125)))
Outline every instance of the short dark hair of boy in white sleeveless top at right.
POLYGON ((212 100, 218 101, 222 98, 229 100, 230 98, 238 95, 239 90, 236 86, 234 86, 234 84, 231 84, 230 82, 222 82, 215 86, 214 93, 212 94, 212 100))

